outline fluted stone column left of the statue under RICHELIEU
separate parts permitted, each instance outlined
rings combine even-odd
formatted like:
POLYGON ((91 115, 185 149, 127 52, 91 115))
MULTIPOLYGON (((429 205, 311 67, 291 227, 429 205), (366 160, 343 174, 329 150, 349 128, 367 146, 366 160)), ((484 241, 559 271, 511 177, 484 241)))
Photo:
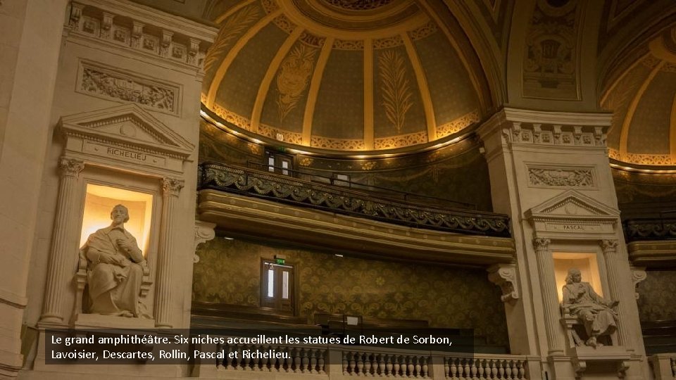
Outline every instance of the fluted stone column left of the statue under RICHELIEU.
POLYGON ((61 181, 58 186, 56 220, 51 239, 51 255, 47 270, 47 282, 42 308, 42 323, 63 323, 62 300, 66 286, 71 280, 73 257, 77 255, 77 244, 74 238, 75 196, 77 194, 77 177, 84 169, 84 163, 74 158, 61 157, 58 162, 61 181))

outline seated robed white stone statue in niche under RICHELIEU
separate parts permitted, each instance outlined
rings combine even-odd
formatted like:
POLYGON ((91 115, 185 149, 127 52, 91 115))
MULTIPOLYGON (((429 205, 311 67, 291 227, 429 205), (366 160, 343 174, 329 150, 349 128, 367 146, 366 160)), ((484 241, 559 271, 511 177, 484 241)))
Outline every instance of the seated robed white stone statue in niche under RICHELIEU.
POLYGON ((110 227, 89 235, 81 248, 88 262, 88 312, 150 318, 139 300, 146 260, 134 236, 125 230, 129 211, 116 205, 111 220, 110 227))

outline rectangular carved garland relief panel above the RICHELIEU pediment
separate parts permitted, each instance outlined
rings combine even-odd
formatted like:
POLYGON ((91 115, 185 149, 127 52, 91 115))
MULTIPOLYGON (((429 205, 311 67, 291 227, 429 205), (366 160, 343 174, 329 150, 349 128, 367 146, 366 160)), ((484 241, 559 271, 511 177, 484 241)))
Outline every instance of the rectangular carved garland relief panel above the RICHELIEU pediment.
POLYGON ((149 80, 103 65, 80 63, 77 92, 118 101, 137 103, 144 108, 178 115, 180 87, 149 80))

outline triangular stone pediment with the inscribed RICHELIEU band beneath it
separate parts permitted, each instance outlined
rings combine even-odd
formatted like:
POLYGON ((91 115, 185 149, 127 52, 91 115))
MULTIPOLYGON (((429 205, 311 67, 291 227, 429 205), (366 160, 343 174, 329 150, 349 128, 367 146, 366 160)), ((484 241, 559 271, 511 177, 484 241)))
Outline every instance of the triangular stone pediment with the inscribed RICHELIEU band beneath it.
POLYGON ((103 166, 164 175, 183 172, 194 145, 135 104, 64 116, 65 155, 103 166))

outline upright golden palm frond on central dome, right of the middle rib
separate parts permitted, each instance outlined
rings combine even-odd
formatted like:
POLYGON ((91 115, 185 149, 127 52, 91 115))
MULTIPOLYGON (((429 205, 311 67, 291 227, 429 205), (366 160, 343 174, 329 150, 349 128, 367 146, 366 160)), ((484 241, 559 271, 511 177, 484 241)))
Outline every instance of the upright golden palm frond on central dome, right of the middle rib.
POLYGON ((382 101, 387 120, 392 122, 397 133, 406 120, 406 113, 413 106, 413 92, 406 77, 406 62, 396 50, 384 51, 378 59, 380 82, 382 84, 382 101))

